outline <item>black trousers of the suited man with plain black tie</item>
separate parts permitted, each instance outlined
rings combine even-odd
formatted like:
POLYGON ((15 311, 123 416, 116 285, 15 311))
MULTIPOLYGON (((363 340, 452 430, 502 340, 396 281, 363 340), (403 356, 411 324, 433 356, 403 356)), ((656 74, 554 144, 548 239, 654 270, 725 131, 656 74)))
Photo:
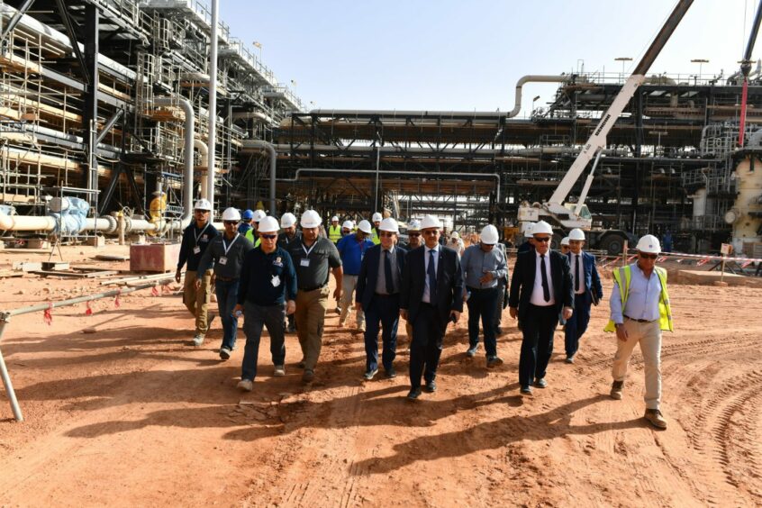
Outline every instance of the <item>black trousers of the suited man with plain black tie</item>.
POLYGON ((553 353, 553 332, 558 326, 556 305, 538 307, 527 304, 522 320, 522 355, 519 358, 519 384, 530 386, 534 378, 545 377, 553 353))

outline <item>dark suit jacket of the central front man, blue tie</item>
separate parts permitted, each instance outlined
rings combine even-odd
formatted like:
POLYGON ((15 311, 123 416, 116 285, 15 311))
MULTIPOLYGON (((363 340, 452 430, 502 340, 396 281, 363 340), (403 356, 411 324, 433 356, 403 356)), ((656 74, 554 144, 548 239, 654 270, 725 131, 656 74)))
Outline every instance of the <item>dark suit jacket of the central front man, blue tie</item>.
MULTIPOLYGON (((400 290, 400 308, 407 309, 410 322, 414 322, 421 309, 423 289, 426 281, 426 263, 423 258, 427 249, 414 249, 407 255, 400 290)), ((463 272, 458 253, 440 245, 440 259, 437 261, 437 311, 440 324, 447 326, 449 312, 463 311, 463 272)), ((444 329, 440 330, 444 333, 444 329)))

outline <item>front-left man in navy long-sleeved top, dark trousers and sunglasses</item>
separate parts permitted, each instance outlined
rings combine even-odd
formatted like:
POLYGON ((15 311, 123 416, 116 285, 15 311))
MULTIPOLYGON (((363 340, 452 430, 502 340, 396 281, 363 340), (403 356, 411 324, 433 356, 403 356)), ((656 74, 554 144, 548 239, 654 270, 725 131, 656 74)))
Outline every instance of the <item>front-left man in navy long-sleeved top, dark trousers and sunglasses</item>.
POLYGON ((240 370, 240 390, 250 392, 257 376, 259 339, 263 327, 270 334, 273 376, 286 376, 286 342, 283 325, 286 314, 296 309, 296 272, 286 250, 277 246, 278 224, 275 217, 259 221, 259 249, 246 255, 240 273, 240 289, 235 312, 243 312, 246 346, 240 370))

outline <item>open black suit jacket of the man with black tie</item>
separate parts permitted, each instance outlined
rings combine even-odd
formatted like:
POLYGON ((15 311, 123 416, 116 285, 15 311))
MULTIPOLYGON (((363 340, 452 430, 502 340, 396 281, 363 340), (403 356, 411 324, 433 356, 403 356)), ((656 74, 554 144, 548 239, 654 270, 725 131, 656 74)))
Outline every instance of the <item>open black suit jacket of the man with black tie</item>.
MULTIPOLYGON (((548 250, 550 259, 550 277, 553 280, 553 298, 556 300, 556 310, 561 312, 563 307, 574 308, 574 290, 572 289, 569 259, 557 252, 548 250)), ((534 249, 522 252, 516 256, 511 279, 511 295, 509 305, 519 308, 519 321, 524 321, 534 289, 534 277, 537 273, 537 254, 534 249)))

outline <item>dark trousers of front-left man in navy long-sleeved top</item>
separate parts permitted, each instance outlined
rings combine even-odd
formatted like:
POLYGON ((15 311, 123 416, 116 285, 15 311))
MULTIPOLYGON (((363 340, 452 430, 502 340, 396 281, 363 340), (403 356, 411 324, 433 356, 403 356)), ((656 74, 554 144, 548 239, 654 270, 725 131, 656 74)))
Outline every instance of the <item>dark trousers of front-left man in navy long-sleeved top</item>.
POLYGON ((243 364, 240 378, 251 379, 257 376, 259 359, 259 339, 262 329, 267 326, 270 334, 270 355, 273 365, 283 365, 286 360, 283 322, 286 308, 283 304, 258 305, 246 302, 243 305, 243 332, 246 333, 246 346, 243 348, 243 364))

